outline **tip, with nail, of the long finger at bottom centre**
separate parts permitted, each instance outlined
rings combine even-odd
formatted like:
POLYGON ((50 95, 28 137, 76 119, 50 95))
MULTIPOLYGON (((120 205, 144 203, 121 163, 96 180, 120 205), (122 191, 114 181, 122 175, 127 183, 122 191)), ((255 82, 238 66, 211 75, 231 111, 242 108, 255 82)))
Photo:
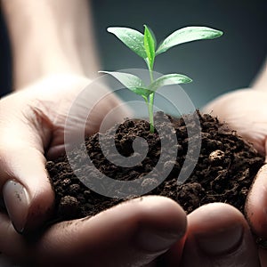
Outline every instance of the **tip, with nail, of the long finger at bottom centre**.
POLYGON ((165 253, 175 243, 175 247, 183 244, 187 217, 182 207, 171 198, 135 198, 117 206, 117 213, 122 212, 132 217, 135 231, 133 246, 142 253, 154 254, 155 257, 165 253))

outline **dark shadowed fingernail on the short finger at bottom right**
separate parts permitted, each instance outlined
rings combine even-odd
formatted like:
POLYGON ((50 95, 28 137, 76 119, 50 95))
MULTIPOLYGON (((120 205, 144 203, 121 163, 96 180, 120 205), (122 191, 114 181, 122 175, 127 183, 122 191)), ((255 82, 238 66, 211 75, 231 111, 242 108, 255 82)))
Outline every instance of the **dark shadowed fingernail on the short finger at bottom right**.
POLYGON ((234 251, 243 239, 242 225, 231 225, 224 229, 195 235, 198 247, 207 255, 222 255, 234 251))

